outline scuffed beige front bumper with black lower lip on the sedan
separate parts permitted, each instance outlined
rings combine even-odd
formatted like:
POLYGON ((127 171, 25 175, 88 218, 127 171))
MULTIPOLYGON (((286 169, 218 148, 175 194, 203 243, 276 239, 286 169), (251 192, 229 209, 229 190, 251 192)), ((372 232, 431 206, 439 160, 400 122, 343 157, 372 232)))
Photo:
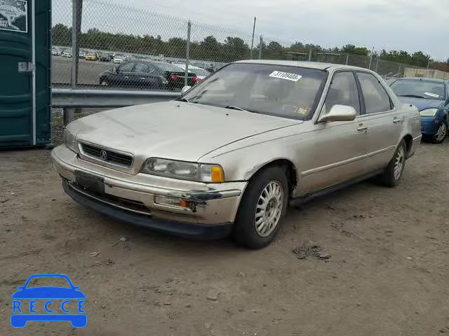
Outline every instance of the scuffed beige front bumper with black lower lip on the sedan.
POLYGON ((128 174, 81 160, 65 145, 51 152, 65 192, 114 218, 182 236, 218 237, 229 233, 246 182, 199 183, 148 174, 128 174), (105 193, 96 194, 76 184, 75 171, 101 176, 105 193), (156 196, 191 202, 187 208, 155 202, 156 196), (213 232, 214 233, 210 233, 213 232))

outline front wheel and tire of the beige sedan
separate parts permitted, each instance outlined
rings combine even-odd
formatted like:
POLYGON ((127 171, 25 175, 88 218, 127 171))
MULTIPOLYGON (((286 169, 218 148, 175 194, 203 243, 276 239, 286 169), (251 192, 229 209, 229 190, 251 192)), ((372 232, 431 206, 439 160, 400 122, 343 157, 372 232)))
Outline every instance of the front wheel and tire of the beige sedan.
POLYGON ((267 167, 253 176, 234 222, 232 237, 236 244, 254 249, 268 246, 281 229, 288 196, 286 169, 267 167), (267 201, 263 202, 262 198, 267 201), (263 209, 269 218, 261 214, 263 209), (258 228, 256 222, 259 222, 258 228))

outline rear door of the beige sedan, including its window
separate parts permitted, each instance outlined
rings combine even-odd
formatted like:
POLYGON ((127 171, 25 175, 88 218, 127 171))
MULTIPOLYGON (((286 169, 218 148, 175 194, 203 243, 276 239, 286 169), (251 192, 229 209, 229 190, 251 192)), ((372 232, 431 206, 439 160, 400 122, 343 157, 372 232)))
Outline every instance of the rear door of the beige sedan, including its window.
POLYGON ((361 120, 368 127, 368 165, 371 170, 386 167, 398 146, 406 116, 396 109, 387 90, 372 73, 357 71, 363 95, 361 120))

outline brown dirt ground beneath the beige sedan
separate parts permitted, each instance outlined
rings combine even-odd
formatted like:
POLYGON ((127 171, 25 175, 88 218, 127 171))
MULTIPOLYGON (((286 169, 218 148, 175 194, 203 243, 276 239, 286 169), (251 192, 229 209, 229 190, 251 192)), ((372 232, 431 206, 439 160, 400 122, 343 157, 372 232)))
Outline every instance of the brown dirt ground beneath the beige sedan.
POLYGON ((261 251, 101 216, 63 193, 49 154, 0 153, 0 335, 449 335, 448 141, 423 144, 398 188, 290 207, 261 251), (298 259, 310 241, 330 259, 298 259), (37 273, 81 286, 86 328, 11 327, 11 295, 37 273))

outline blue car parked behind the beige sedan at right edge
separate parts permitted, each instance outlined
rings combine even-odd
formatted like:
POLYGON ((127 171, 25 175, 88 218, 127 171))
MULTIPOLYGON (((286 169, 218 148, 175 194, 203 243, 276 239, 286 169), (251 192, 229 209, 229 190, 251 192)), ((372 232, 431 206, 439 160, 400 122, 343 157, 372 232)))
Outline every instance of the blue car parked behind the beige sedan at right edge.
POLYGON ((420 110, 423 139, 441 144, 448 135, 449 81, 401 78, 390 87, 402 102, 420 110))

